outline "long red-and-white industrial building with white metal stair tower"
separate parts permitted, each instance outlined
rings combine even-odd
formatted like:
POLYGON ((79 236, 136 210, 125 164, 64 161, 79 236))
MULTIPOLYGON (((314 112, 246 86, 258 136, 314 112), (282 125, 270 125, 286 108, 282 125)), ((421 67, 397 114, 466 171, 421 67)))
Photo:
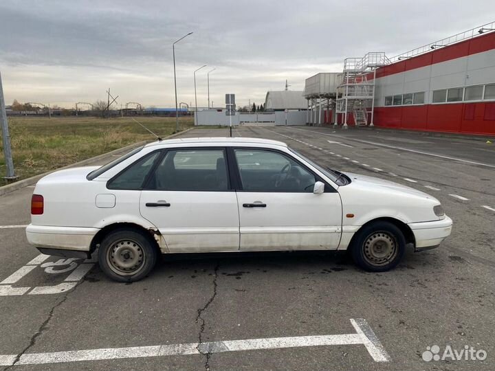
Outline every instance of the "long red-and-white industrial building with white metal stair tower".
POLYGON ((495 23, 390 59, 347 58, 340 78, 327 123, 495 135, 495 23))

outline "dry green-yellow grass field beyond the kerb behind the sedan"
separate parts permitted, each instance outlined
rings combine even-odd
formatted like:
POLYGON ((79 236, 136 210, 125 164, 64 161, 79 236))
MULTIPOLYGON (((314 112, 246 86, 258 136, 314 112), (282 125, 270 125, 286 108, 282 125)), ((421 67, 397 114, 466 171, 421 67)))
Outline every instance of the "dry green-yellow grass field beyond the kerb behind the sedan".
MULTIPOLYGON (((136 117, 160 137, 175 132, 175 117, 136 117)), ((8 117, 14 168, 20 179, 61 168, 117 148, 154 139, 129 117, 8 117)), ((179 117, 179 126, 194 124, 179 117)), ((6 175, 0 142, 0 178, 6 175)), ((0 180, 0 186, 3 181, 0 180)))

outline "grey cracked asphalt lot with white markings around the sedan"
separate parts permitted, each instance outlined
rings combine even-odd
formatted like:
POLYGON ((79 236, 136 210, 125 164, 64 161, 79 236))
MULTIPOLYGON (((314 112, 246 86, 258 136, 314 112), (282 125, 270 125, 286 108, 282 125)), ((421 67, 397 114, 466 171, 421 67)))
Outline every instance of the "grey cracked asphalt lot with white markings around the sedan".
POLYGON ((495 369, 495 144, 308 126, 233 134, 428 192, 453 219, 452 236, 386 273, 344 253, 201 254, 164 256, 145 280, 120 284, 92 260, 28 245, 34 188, 23 188, 0 196, 4 370, 495 369), (433 346, 486 358, 424 361, 433 346))

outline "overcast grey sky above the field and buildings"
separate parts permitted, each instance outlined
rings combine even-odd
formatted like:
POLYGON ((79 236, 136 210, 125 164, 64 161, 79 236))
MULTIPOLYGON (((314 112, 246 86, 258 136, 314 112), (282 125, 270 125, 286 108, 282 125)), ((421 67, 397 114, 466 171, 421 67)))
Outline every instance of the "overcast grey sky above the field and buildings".
POLYGON ((337 72, 343 59, 388 56, 495 20, 493 0, 470 1, 15 1, 0 2, 0 71, 10 104, 106 99, 263 103, 268 90, 302 90, 305 78, 337 72), (114 96, 115 96, 114 95, 114 96))

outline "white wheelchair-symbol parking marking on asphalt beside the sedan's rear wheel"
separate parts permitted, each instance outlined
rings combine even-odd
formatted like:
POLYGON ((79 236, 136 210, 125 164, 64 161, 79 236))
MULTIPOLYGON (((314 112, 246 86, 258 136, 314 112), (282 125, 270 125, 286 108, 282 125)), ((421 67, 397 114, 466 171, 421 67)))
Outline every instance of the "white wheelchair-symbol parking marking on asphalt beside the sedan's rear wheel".
POLYGON ((78 282, 83 280, 86 274, 93 268, 94 260, 84 260, 83 263, 76 263, 75 258, 70 259, 59 259, 56 262, 45 262, 47 258, 50 258, 50 255, 39 254, 36 258, 32 259, 25 266, 17 269, 14 273, 12 273, 8 278, 0 282, 0 296, 17 296, 17 295, 46 295, 46 294, 56 294, 63 293, 70 289, 74 289, 78 282), (15 284, 21 280, 24 276, 27 276, 28 273, 36 269, 36 267, 40 267, 45 270, 46 273, 50 274, 61 274, 72 271, 72 273, 65 278, 63 282, 60 284, 52 285, 52 286, 24 286, 24 287, 14 287, 12 284, 15 284), (61 268, 63 267, 63 268, 61 268), (29 291, 29 292, 28 292, 29 291))

